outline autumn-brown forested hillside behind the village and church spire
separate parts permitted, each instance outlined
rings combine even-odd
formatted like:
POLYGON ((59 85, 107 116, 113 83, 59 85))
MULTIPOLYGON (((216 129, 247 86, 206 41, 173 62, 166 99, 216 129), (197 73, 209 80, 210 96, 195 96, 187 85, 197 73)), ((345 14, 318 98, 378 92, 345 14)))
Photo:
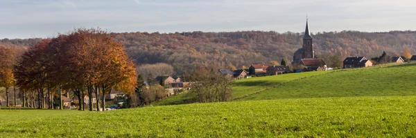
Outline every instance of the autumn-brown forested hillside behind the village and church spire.
MULTIPOLYGON (((124 32, 112 33, 131 59, 144 63, 169 63, 177 75, 190 67, 237 68, 251 63, 268 63, 282 58, 291 61, 293 52, 302 47, 302 33, 295 32, 124 32)), ((318 57, 340 55, 379 57, 383 51, 402 55, 409 47, 415 53, 416 31, 392 32, 318 32, 313 34, 318 57)), ((0 46, 31 46, 39 39, 2 39, 0 46)))

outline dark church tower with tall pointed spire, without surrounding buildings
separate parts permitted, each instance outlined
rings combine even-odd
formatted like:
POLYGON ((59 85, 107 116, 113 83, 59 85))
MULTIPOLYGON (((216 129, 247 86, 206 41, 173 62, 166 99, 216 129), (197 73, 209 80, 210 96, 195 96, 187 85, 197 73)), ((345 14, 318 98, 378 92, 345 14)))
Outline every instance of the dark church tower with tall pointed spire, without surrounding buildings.
POLYGON ((302 48, 304 49, 302 58, 315 59, 315 51, 313 51, 313 41, 312 41, 311 34, 309 33, 308 18, 306 18, 306 28, 305 28, 302 48))

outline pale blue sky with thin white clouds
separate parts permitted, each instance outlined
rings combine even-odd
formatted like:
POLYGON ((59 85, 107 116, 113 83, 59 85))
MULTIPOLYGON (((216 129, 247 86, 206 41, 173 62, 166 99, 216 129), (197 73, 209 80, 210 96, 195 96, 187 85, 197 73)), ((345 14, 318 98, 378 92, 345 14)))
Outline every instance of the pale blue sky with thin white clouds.
POLYGON ((416 30, 415 0, 0 0, 0 39, 108 32, 416 30))

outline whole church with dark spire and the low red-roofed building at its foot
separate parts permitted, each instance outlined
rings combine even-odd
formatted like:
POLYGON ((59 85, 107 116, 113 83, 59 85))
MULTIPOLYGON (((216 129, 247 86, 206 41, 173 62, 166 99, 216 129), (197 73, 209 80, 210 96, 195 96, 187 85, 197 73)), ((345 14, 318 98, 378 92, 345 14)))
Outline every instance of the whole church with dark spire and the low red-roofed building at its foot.
POLYGON ((325 70, 326 63, 322 59, 315 59, 315 50, 313 50, 313 38, 309 32, 309 23, 306 19, 305 34, 303 37, 302 48, 296 50, 293 54, 293 66, 302 66, 299 68, 304 71, 325 70))

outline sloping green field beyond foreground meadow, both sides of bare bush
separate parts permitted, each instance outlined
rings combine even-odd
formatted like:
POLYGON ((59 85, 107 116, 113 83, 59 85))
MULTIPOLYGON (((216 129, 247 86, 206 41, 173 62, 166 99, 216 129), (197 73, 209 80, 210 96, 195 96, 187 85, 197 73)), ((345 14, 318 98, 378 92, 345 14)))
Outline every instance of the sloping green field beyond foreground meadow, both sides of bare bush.
MULTIPOLYGON (((416 63, 388 64, 370 68, 302 72, 236 80, 234 101, 311 97, 416 95, 416 63)), ((153 103, 166 106, 192 103, 185 93, 153 103)))

